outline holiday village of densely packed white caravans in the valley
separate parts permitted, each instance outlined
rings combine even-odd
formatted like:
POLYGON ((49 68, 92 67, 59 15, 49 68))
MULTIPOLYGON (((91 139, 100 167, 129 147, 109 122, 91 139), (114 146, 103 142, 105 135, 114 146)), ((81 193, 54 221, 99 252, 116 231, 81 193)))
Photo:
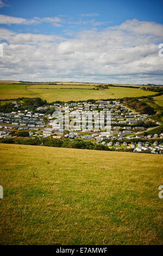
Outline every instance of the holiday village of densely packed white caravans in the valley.
MULTIPOLYGON (((12 103, 16 109, 18 103, 12 103)), ((0 138, 13 137, 13 131, 27 131, 32 138, 83 139, 110 149, 133 149, 134 153, 163 152, 163 133, 144 133, 153 129, 154 121, 119 101, 55 103, 50 105, 53 114, 39 113, 47 107, 37 107, 35 113, 28 109, 0 113, 0 138)))

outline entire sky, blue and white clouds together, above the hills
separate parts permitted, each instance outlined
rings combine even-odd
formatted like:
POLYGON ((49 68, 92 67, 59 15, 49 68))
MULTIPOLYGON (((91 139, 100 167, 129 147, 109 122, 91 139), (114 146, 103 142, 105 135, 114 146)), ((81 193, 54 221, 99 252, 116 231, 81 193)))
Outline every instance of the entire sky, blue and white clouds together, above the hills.
POLYGON ((163 84, 162 10, 162 0, 0 0, 0 80, 163 84))

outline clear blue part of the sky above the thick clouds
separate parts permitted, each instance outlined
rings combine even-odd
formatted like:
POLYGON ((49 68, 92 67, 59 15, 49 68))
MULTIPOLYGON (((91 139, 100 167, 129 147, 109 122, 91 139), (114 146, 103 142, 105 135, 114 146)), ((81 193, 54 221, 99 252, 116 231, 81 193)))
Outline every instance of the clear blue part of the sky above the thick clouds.
MULTIPOLYGON (((10 24, 10 29, 22 30, 23 33, 65 34, 65 30, 81 31, 91 27, 100 30, 132 19, 163 23, 162 0, 8 0, 3 2, 6 4, 0 9, 0 14, 3 15, 25 19, 59 17, 64 21, 61 27, 47 23, 35 24, 35 28, 33 25, 10 24), (99 25, 92 26, 89 22, 91 20, 99 22, 99 25), (85 21, 85 24, 76 24, 80 21, 85 21)), ((2 27, 7 28, 8 25, 2 25, 2 27)))

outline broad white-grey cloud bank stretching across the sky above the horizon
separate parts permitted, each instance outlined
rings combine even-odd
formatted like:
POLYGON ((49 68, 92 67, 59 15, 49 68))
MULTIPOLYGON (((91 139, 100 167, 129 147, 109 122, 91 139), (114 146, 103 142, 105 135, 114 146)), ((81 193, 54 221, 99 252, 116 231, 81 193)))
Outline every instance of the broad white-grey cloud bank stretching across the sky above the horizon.
POLYGON ((1 79, 162 84, 162 28, 131 20, 102 31, 85 30, 73 39, 1 28, 1 79))

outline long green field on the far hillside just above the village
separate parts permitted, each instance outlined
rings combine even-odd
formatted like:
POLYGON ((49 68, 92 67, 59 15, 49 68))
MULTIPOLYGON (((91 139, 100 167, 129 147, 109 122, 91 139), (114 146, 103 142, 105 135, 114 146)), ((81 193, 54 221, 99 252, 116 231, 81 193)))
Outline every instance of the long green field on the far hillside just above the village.
POLYGON ((146 92, 145 90, 135 88, 109 87, 109 89, 103 90, 87 90, 90 88, 92 88, 91 84, 90 86, 70 84, 65 86, 50 86, 48 84, 34 84, 33 86, 27 86, 26 84, 0 84, 0 100, 16 99, 18 97, 41 97, 41 99, 47 100, 48 102, 56 100, 78 101, 89 99, 118 99, 121 97, 136 97, 154 94, 153 92, 146 92), (70 86, 72 89, 66 89, 66 87, 70 88, 70 86))

